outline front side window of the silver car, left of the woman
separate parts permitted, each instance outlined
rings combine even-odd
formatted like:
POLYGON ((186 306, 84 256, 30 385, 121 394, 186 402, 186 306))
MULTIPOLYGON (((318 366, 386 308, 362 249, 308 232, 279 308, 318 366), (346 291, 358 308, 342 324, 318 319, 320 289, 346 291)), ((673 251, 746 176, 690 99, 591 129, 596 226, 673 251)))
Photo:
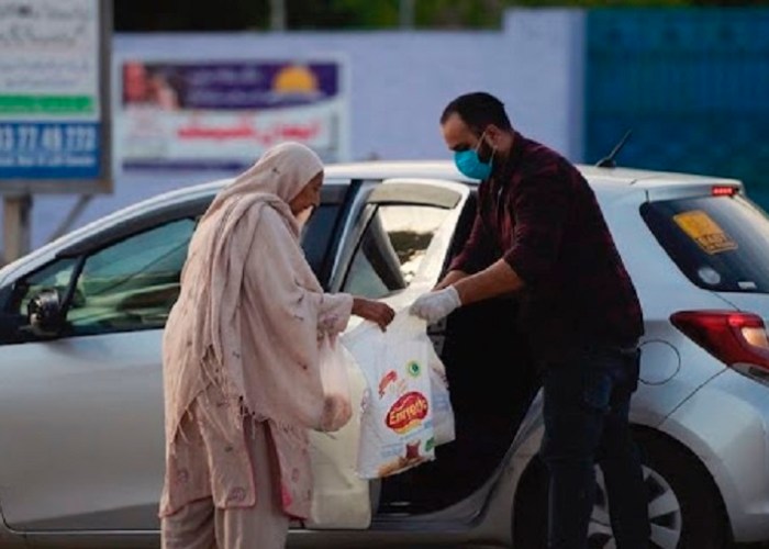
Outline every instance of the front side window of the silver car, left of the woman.
MULTIPOLYGON (((67 311, 68 335, 158 328, 179 294, 179 278, 196 222, 183 219, 132 235, 89 255, 67 311)), ((41 290, 64 295, 76 259, 56 260, 22 281, 18 313, 41 290)))

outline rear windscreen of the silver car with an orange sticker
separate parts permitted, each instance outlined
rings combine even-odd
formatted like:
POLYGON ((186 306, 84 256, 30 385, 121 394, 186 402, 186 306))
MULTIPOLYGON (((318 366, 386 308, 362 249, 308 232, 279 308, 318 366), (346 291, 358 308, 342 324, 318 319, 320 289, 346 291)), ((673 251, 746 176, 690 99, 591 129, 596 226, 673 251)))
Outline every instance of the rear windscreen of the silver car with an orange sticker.
POLYGON ((769 292, 769 217, 740 195, 650 202, 642 216, 700 288, 769 292))

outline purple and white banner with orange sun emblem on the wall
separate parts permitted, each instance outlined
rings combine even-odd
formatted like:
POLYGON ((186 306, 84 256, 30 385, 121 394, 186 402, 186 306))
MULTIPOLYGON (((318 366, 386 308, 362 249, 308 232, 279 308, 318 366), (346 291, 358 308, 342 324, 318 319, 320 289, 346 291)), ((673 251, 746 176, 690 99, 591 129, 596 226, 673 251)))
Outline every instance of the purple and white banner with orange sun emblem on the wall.
POLYGON ((118 64, 114 155, 122 172, 239 171, 298 141, 324 161, 346 154, 343 66, 319 60, 147 60, 118 64))

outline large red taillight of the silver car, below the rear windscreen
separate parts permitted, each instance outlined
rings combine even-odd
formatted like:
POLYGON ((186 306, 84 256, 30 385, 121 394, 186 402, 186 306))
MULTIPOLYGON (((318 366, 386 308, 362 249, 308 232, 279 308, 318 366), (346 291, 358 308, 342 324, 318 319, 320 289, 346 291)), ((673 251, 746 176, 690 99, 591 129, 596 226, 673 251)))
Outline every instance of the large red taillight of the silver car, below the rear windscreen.
POLYGON ((769 379, 769 339, 760 316, 735 311, 680 311, 670 316, 670 322, 725 365, 769 379))

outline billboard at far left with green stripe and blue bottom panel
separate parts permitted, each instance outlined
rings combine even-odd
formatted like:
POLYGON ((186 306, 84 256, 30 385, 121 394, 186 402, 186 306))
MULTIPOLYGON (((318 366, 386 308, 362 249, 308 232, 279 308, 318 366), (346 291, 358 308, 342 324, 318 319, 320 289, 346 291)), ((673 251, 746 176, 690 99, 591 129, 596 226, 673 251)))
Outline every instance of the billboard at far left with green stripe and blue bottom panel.
POLYGON ((0 3, 0 180, 105 177, 105 32, 99 0, 0 3))

